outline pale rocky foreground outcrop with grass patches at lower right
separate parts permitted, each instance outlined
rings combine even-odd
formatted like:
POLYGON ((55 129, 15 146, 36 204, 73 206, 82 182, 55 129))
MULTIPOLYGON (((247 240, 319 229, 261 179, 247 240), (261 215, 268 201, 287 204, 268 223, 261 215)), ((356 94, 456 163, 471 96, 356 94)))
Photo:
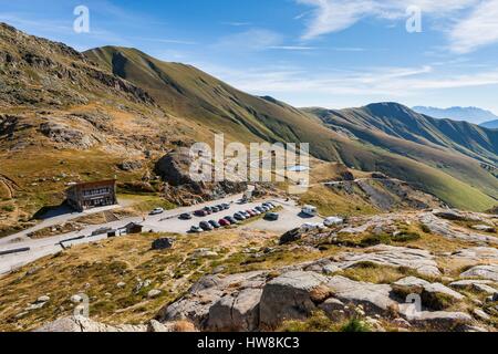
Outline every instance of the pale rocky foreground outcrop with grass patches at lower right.
MULTIPOLYGON (((292 321, 305 322, 320 313, 331 323, 356 319, 371 331, 495 332, 496 225, 492 216, 434 210, 350 220, 325 233, 301 235, 295 230, 293 239, 282 237, 290 250, 304 247, 313 252, 325 244, 336 247, 338 242, 350 247, 333 257, 277 269, 224 274, 220 267, 165 305, 146 325, 113 327, 70 317, 40 331, 168 332, 178 330, 178 323, 186 331, 280 331, 292 321), (381 240, 383 235, 406 236, 398 230, 401 220, 404 225, 419 222, 432 232, 435 244, 422 249, 378 242, 351 248, 354 236, 364 232, 381 240), (460 248, 438 250, 434 240, 456 242, 452 244, 460 248), (397 275, 375 282, 378 274, 392 272, 397 275)), ((261 254, 256 253, 258 257, 261 254)))

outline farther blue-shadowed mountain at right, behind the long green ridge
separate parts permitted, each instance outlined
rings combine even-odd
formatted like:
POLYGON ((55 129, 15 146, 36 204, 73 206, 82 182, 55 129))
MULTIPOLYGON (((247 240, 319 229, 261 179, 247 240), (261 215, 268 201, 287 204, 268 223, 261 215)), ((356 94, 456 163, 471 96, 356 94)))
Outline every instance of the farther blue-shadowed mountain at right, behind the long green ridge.
MULTIPOLYGON (((396 154, 398 158, 404 156, 416 160, 426 168, 437 169, 437 174, 445 173, 450 175, 459 179, 460 183, 474 186, 492 198, 498 197, 498 180, 489 173, 489 168, 492 170, 492 166, 496 166, 494 162, 497 158, 496 150, 492 150, 496 142, 491 131, 470 125, 471 132, 476 133, 477 136, 483 137, 479 135, 479 132, 484 132, 484 140, 489 143, 488 145, 475 145, 479 149, 486 150, 486 155, 489 156, 489 159, 480 163, 477 159, 477 157, 480 157, 477 153, 463 147, 450 138, 458 129, 467 126, 468 124, 466 123, 438 122, 437 119, 413 113, 409 108, 397 104, 377 104, 342 111, 323 108, 308 108, 305 111, 320 117, 332 129, 396 154), (489 147, 490 150, 483 146, 489 147), (477 155, 476 159, 470 157, 475 155, 477 155)), ((463 132, 460 135, 464 136, 463 138, 466 142, 475 143, 471 132, 463 132)), ((458 138, 461 139, 461 137, 458 138)), ((469 143, 468 146, 471 147, 473 144, 469 143)), ((483 160, 483 157, 480 157, 480 160, 483 160)), ((400 163, 390 163, 390 165, 383 166, 386 174, 391 176, 403 174, 401 170, 393 170, 393 168, 397 169, 396 167, 400 166, 400 163)), ((414 179, 416 178, 409 178, 408 176, 406 180, 414 181, 414 179)), ((434 183, 434 178, 430 178, 430 183, 434 183)), ((442 187, 447 189, 444 186, 442 187)), ((448 197, 455 199, 458 197, 452 197, 448 194, 455 195, 456 190, 461 189, 455 189, 453 192, 446 190, 443 194, 442 189, 439 189, 436 195, 445 195, 443 197, 444 200, 448 200, 448 197)), ((485 199, 487 198, 483 198, 483 201, 485 199)), ((495 201, 488 200, 488 202, 495 201)))

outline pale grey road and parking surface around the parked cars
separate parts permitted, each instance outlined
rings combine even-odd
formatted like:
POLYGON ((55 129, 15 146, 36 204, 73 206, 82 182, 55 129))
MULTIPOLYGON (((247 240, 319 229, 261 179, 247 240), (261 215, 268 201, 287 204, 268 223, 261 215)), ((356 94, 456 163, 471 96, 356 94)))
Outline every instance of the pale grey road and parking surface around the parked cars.
MULTIPOLYGON (((85 229, 77 232, 70 232, 66 235, 38 240, 30 239, 25 236, 28 232, 33 231, 33 229, 25 230, 23 231, 22 235, 12 236, 0 240, 0 251, 30 248, 30 251, 0 256, 0 274, 10 272, 13 269, 31 263, 40 258, 54 254, 61 251, 63 249, 61 242, 64 240, 82 237, 82 239, 63 242, 65 247, 69 247, 106 239, 107 238, 106 235, 91 237, 93 231, 103 227, 117 229, 129 222, 137 222, 144 226, 144 232, 154 231, 154 232, 187 233, 191 226, 194 225, 198 226, 199 222, 201 221, 219 220, 225 216, 234 215, 237 211, 253 209, 255 207, 261 205, 262 202, 260 201, 240 205, 238 204, 238 201, 241 198, 242 195, 236 195, 220 200, 197 205, 194 207, 168 210, 158 216, 148 216, 145 221, 142 218, 127 218, 105 225, 89 226, 85 229), (178 216, 180 214, 194 212, 195 210, 201 209, 206 206, 215 206, 222 202, 230 204, 231 206, 230 209, 203 218, 194 217, 194 219, 191 220, 178 219, 178 216)), ((286 232, 292 228, 300 227, 304 222, 318 222, 323 220, 321 218, 304 218, 300 216, 301 209, 291 202, 286 202, 284 200, 268 199, 264 201, 273 201, 282 207, 282 210, 279 211, 280 220, 279 221, 256 220, 253 222, 243 225, 241 229, 286 232)), ((61 218, 56 219, 56 221, 60 220, 61 218)), ((46 220, 45 226, 52 222, 54 222, 54 220, 46 220)), ((53 225, 56 225, 56 222, 53 225)))

